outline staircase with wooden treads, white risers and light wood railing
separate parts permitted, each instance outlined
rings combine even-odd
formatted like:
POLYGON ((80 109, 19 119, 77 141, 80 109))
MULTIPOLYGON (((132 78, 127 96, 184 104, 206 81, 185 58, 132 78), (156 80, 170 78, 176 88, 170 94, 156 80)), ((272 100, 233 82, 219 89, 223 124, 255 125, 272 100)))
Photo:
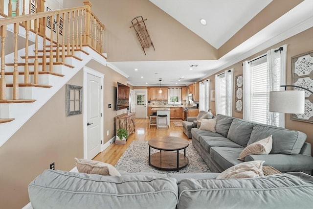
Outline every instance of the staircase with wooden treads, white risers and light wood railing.
POLYGON ((91 12, 90 2, 84 4, 0 19, 0 146, 91 59, 99 60, 100 56, 106 62, 102 55, 104 25, 91 12), (48 18, 60 25, 61 17, 62 35, 61 26, 56 33, 46 31, 48 18), (39 23, 43 24, 41 28, 39 23), (5 54, 7 34, 14 36, 14 50, 9 54, 5 54), (25 37, 25 47, 18 50, 21 37, 25 37))

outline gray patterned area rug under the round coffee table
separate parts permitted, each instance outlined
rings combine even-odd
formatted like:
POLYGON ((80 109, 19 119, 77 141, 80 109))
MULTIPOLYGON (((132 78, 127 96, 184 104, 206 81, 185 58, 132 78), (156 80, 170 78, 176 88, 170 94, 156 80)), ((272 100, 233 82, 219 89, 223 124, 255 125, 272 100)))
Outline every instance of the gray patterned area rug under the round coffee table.
MULTIPOLYGON (((151 154, 159 152, 159 150, 151 148, 151 154)), ((183 154, 183 150, 179 153, 183 154)), ((124 152, 122 157, 116 163, 115 167, 122 173, 209 173, 211 172, 204 163, 197 150, 189 141, 186 148, 186 156, 189 163, 186 167, 179 171, 159 170, 149 165, 149 145, 148 141, 132 141, 130 146, 124 152)))

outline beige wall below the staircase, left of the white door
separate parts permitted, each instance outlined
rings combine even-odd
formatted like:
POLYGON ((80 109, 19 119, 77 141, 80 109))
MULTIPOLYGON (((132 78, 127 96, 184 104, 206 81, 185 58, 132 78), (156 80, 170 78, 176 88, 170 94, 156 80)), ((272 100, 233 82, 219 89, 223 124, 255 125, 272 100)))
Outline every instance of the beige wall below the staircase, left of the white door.
MULTIPOLYGON (((78 72, 68 84, 83 85, 78 72)), ((50 163, 71 170, 83 158, 83 115, 66 116, 66 86, 0 147, 0 208, 21 209, 28 184, 50 163)))

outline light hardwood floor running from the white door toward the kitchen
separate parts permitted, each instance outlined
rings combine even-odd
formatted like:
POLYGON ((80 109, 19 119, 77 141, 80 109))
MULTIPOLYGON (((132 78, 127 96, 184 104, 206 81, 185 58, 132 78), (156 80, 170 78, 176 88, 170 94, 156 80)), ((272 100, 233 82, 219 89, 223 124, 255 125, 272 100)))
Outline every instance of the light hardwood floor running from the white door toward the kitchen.
POLYGON ((190 140, 182 132, 182 127, 175 126, 172 121, 169 129, 164 128, 156 129, 156 126, 151 126, 151 128, 149 128, 149 119, 145 118, 136 118, 135 122, 136 122, 135 133, 131 134, 128 137, 126 144, 116 145, 115 143, 112 143, 107 149, 99 153, 92 160, 115 165, 120 159, 120 157, 123 155, 125 150, 128 148, 130 143, 134 140, 148 141, 149 139, 163 136, 180 137, 182 139, 190 140))

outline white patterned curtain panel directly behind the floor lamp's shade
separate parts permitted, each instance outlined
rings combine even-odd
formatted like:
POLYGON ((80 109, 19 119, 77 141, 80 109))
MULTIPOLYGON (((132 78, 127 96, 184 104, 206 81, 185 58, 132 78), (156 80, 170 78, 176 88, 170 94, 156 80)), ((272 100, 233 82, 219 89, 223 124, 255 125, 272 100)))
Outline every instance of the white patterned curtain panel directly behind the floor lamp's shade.
POLYGON ((267 51, 267 124, 285 127, 285 114, 269 112, 269 92, 283 91, 280 85, 286 85, 287 45, 284 50, 275 52, 272 48, 267 51))

